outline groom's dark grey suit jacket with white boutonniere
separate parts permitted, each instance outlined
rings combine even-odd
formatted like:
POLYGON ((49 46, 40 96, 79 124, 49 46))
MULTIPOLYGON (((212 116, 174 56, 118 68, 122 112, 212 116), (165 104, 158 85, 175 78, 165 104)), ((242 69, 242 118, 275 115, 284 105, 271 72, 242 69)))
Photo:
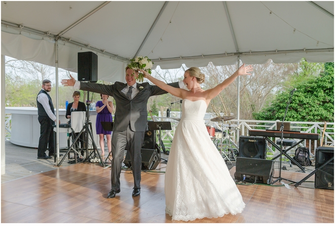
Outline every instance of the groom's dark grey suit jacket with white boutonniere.
MULTIPOLYGON (((170 83, 173 87, 179 88, 178 82, 170 83)), ((127 86, 127 83, 115 82, 112 85, 80 82, 80 89, 101 93, 111 96, 115 99, 116 111, 114 117, 113 131, 125 131, 130 123, 133 131, 147 131, 148 99, 154 95, 161 95, 167 91, 148 82, 137 83, 136 88, 139 93, 134 99, 129 100, 128 97, 121 92, 127 86)))

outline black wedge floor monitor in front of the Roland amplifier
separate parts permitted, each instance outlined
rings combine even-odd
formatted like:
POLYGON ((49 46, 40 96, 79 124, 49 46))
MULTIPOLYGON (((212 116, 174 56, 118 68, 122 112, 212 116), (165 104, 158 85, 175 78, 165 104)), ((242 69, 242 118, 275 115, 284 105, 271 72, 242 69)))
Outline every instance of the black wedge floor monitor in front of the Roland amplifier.
POLYGON ((234 177, 238 181, 269 185, 272 183, 273 174, 273 160, 236 157, 234 177))

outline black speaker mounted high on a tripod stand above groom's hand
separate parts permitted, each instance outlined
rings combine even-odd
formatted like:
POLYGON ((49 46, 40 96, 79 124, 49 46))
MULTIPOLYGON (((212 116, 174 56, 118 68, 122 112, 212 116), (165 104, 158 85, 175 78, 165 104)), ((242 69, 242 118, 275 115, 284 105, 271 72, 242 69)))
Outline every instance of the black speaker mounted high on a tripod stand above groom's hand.
POLYGON ((78 80, 98 81, 98 55, 91 52, 78 52, 78 80))

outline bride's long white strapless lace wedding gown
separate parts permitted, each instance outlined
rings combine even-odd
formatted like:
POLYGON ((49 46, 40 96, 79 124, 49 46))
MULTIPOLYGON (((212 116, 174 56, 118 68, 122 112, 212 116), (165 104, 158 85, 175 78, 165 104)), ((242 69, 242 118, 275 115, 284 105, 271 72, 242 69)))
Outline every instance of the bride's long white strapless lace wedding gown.
POLYGON ((227 165, 211 141, 205 101, 183 100, 165 173, 166 213, 172 220, 217 218, 242 212, 245 204, 227 165))

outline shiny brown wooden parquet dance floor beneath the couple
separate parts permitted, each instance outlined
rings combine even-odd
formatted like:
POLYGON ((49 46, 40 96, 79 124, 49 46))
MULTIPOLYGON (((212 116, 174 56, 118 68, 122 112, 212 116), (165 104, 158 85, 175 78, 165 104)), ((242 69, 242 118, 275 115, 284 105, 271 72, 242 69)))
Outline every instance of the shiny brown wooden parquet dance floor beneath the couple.
MULTIPOLYGON (((107 199, 110 167, 94 163, 61 166, 1 183, 1 223, 328 223, 334 225, 334 191, 314 189, 314 175, 298 188, 238 185, 246 206, 237 215, 172 221, 165 213, 164 171, 142 172, 141 194, 132 197, 133 175, 121 173, 121 193, 107 199)), ((235 167, 230 170, 234 177, 235 167)), ((308 173, 283 170, 299 182, 308 173)), ((276 169, 275 177, 278 176, 276 169)), ((288 181, 283 181, 290 184, 288 181)), ((153 229, 153 228, 152 228, 153 229)), ((158 229, 158 228, 156 228, 158 229)), ((160 230, 160 229, 159 229, 160 230)))

